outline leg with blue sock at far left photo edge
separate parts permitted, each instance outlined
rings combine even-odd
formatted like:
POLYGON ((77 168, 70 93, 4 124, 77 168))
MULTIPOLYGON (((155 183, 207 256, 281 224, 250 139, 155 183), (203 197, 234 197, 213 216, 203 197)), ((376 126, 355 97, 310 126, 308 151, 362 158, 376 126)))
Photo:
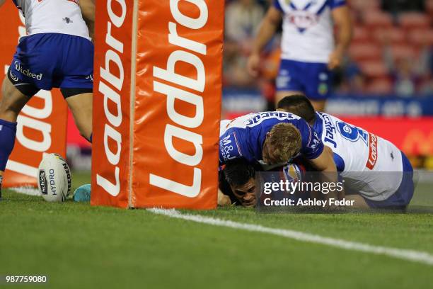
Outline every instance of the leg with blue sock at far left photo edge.
POLYGON ((11 70, 8 77, 5 77, 1 86, 0 101, 0 199, 1 183, 3 182, 6 163, 15 145, 16 119, 18 114, 30 99, 36 94, 36 89, 32 84, 20 82, 15 78, 11 70), (13 78, 12 78, 13 77, 13 78), (19 89, 18 89, 19 88, 19 89))

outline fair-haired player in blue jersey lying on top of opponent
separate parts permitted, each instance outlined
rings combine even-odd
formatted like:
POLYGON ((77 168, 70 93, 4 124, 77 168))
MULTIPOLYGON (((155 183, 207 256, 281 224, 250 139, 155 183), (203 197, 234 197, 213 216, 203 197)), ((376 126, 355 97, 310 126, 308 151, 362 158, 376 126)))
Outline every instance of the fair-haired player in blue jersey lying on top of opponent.
MULTIPOLYGON (((305 120, 292 113, 250 113, 221 122, 219 162, 245 158, 250 163, 284 165, 301 155, 316 171, 326 171, 327 181, 337 181, 337 168, 329 147, 305 120)), ((335 192, 327 198, 342 198, 335 192)))

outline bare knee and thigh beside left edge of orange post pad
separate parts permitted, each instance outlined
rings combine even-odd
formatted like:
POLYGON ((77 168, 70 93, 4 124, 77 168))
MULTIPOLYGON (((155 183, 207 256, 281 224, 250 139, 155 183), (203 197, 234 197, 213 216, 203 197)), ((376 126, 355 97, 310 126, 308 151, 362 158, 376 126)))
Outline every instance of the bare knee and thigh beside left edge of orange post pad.
POLYGON ((93 106, 93 93, 89 92, 91 89, 61 89, 61 91, 80 134, 91 142, 93 106))

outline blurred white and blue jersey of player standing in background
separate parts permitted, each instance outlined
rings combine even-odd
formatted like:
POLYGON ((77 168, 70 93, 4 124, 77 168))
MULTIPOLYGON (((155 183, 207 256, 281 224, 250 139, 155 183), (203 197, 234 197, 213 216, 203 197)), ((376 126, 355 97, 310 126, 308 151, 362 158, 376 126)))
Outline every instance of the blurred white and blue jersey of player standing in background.
POLYGON ((334 49, 331 11, 345 0, 273 0, 283 14, 282 59, 328 63, 334 49))

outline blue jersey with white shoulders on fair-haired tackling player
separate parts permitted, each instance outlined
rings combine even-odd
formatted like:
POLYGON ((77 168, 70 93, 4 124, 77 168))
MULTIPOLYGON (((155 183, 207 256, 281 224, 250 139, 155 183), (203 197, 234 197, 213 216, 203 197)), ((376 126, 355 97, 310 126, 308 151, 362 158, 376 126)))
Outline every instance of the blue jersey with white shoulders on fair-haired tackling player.
POLYGON ((282 111, 250 113, 221 122, 219 162, 244 157, 248 162, 262 161, 262 147, 267 132, 277 123, 291 123, 301 132, 301 154, 316 159, 323 152, 318 134, 302 118, 282 111), (224 123, 224 124, 223 124, 224 123))

